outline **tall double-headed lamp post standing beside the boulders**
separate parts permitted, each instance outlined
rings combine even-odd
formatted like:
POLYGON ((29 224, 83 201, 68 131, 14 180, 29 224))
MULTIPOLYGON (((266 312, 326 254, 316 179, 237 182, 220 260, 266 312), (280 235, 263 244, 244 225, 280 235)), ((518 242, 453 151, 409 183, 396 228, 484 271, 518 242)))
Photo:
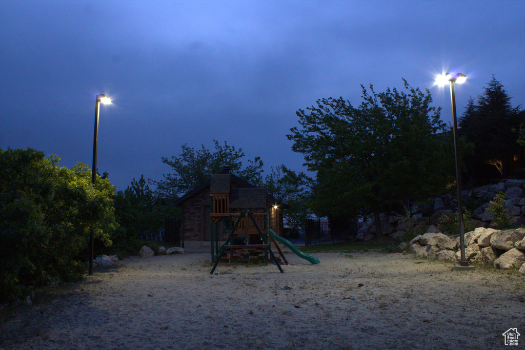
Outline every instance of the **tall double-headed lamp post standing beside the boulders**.
POLYGON ((452 120, 454 133, 454 151, 456 157, 456 185, 458 191, 458 216, 459 216, 459 250, 461 251, 461 261, 454 270, 474 270, 474 266, 468 265, 468 260, 465 256, 465 226, 463 225, 463 194, 461 193, 461 169, 459 167, 459 146, 458 146, 458 125, 456 119, 456 94, 454 92, 454 83, 461 84, 465 82, 467 77, 461 73, 446 73, 436 77, 436 82, 439 86, 445 86, 450 83, 450 100, 452 102, 452 120))

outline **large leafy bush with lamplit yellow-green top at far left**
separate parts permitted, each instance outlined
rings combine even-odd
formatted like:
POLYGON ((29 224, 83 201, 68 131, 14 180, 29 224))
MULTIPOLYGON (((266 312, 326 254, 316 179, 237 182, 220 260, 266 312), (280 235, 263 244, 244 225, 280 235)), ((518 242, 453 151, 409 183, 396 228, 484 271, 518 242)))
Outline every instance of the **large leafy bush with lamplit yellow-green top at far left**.
POLYGON ((0 303, 81 278, 90 230, 111 245, 115 187, 101 178, 93 187, 85 164, 69 169, 58 161, 33 149, 0 149, 0 303))

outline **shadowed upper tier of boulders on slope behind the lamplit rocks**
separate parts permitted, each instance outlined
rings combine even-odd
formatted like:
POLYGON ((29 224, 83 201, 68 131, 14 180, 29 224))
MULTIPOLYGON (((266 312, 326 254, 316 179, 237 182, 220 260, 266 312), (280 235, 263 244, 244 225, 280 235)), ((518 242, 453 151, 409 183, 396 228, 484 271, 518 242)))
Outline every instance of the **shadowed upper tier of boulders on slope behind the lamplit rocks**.
MULTIPOLYGON (((490 227, 492 214, 487 210, 490 201, 500 192, 507 194, 505 205, 507 217, 511 224, 525 222, 525 180, 503 179, 495 185, 475 187, 463 191, 463 203, 475 204, 476 209, 472 212, 472 224, 474 227, 490 227)), ((457 198, 444 195, 429 198, 427 203, 414 206, 409 209, 409 216, 392 216, 381 214, 381 229, 383 236, 395 239, 403 239, 409 232, 427 232, 427 227, 438 226, 439 218, 444 214, 456 213, 458 209, 457 198)), ((437 233, 437 228, 431 232, 437 233)), ((363 226, 358 230, 358 239, 370 240, 375 237, 375 220, 373 217, 366 219, 363 226)))

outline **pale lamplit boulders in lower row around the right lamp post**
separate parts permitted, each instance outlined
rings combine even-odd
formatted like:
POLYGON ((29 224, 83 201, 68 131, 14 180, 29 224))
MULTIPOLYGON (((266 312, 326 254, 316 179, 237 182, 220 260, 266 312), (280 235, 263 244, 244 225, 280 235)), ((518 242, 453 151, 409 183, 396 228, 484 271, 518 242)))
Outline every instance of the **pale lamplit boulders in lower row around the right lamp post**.
MULTIPOLYGON (((427 232, 409 243, 409 253, 438 260, 460 261, 459 237, 427 232)), ((520 268, 525 273, 525 229, 499 231, 478 227, 465 234, 465 258, 497 269, 520 268)))

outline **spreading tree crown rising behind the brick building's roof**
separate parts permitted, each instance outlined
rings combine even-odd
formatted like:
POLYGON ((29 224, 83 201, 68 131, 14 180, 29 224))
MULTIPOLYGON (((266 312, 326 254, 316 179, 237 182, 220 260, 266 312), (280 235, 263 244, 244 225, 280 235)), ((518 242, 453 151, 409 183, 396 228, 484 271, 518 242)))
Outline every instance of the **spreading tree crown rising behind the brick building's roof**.
POLYGON ((248 160, 248 166, 243 167, 241 159, 245 154, 242 149, 236 150, 226 142, 224 146, 216 140, 213 142, 215 152, 210 152, 204 145, 195 151, 185 144, 178 157, 162 157, 162 163, 171 166, 173 173, 164 174, 164 180, 152 182, 156 185, 156 192, 167 198, 178 198, 207 181, 213 174, 220 173, 225 165, 229 165, 233 174, 246 181, 257 186, 262 184, 263 164, 260 157, 255 157, 253 161, 248 160))

